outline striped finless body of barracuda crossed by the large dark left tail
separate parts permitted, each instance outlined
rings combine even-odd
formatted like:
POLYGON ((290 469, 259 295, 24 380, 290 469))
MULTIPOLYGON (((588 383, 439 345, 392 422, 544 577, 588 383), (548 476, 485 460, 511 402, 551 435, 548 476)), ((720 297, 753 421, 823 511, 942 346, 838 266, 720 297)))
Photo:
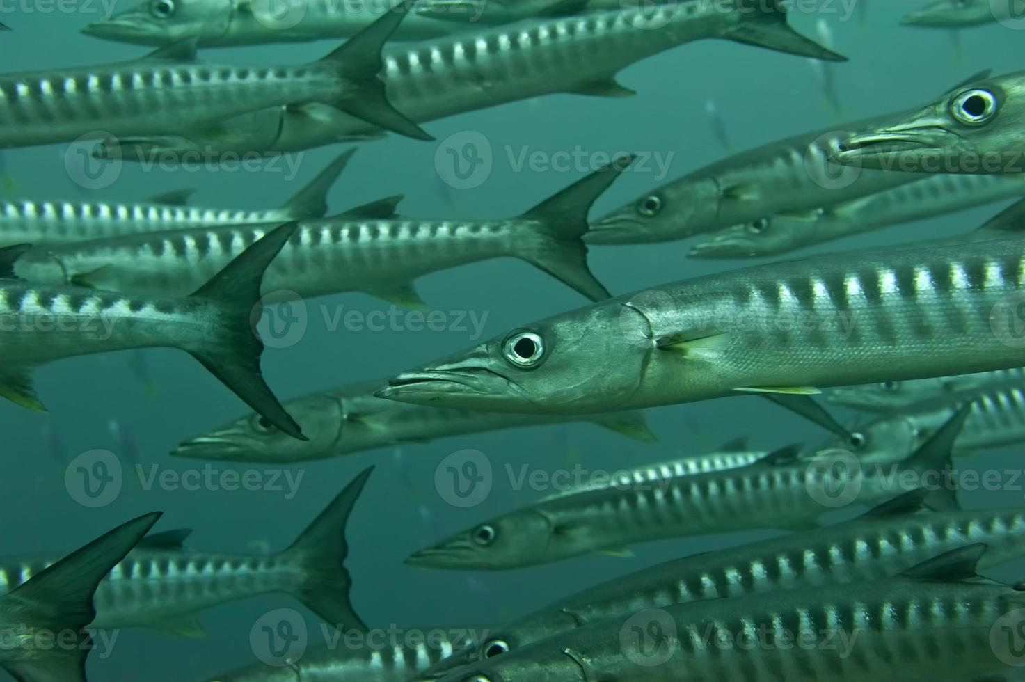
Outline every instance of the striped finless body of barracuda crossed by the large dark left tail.
MULTIPOLYGON (((91 286, 136 294, 195 291, 275 226, 194 229, 33 249, 15 266, 33 282, 89 275, 91 286)), ((304 220, 263 277, 263 291, 341 291, 387 298, 430 272, 497 256, 529 259, 543 247, 532 223, 304 220)))

